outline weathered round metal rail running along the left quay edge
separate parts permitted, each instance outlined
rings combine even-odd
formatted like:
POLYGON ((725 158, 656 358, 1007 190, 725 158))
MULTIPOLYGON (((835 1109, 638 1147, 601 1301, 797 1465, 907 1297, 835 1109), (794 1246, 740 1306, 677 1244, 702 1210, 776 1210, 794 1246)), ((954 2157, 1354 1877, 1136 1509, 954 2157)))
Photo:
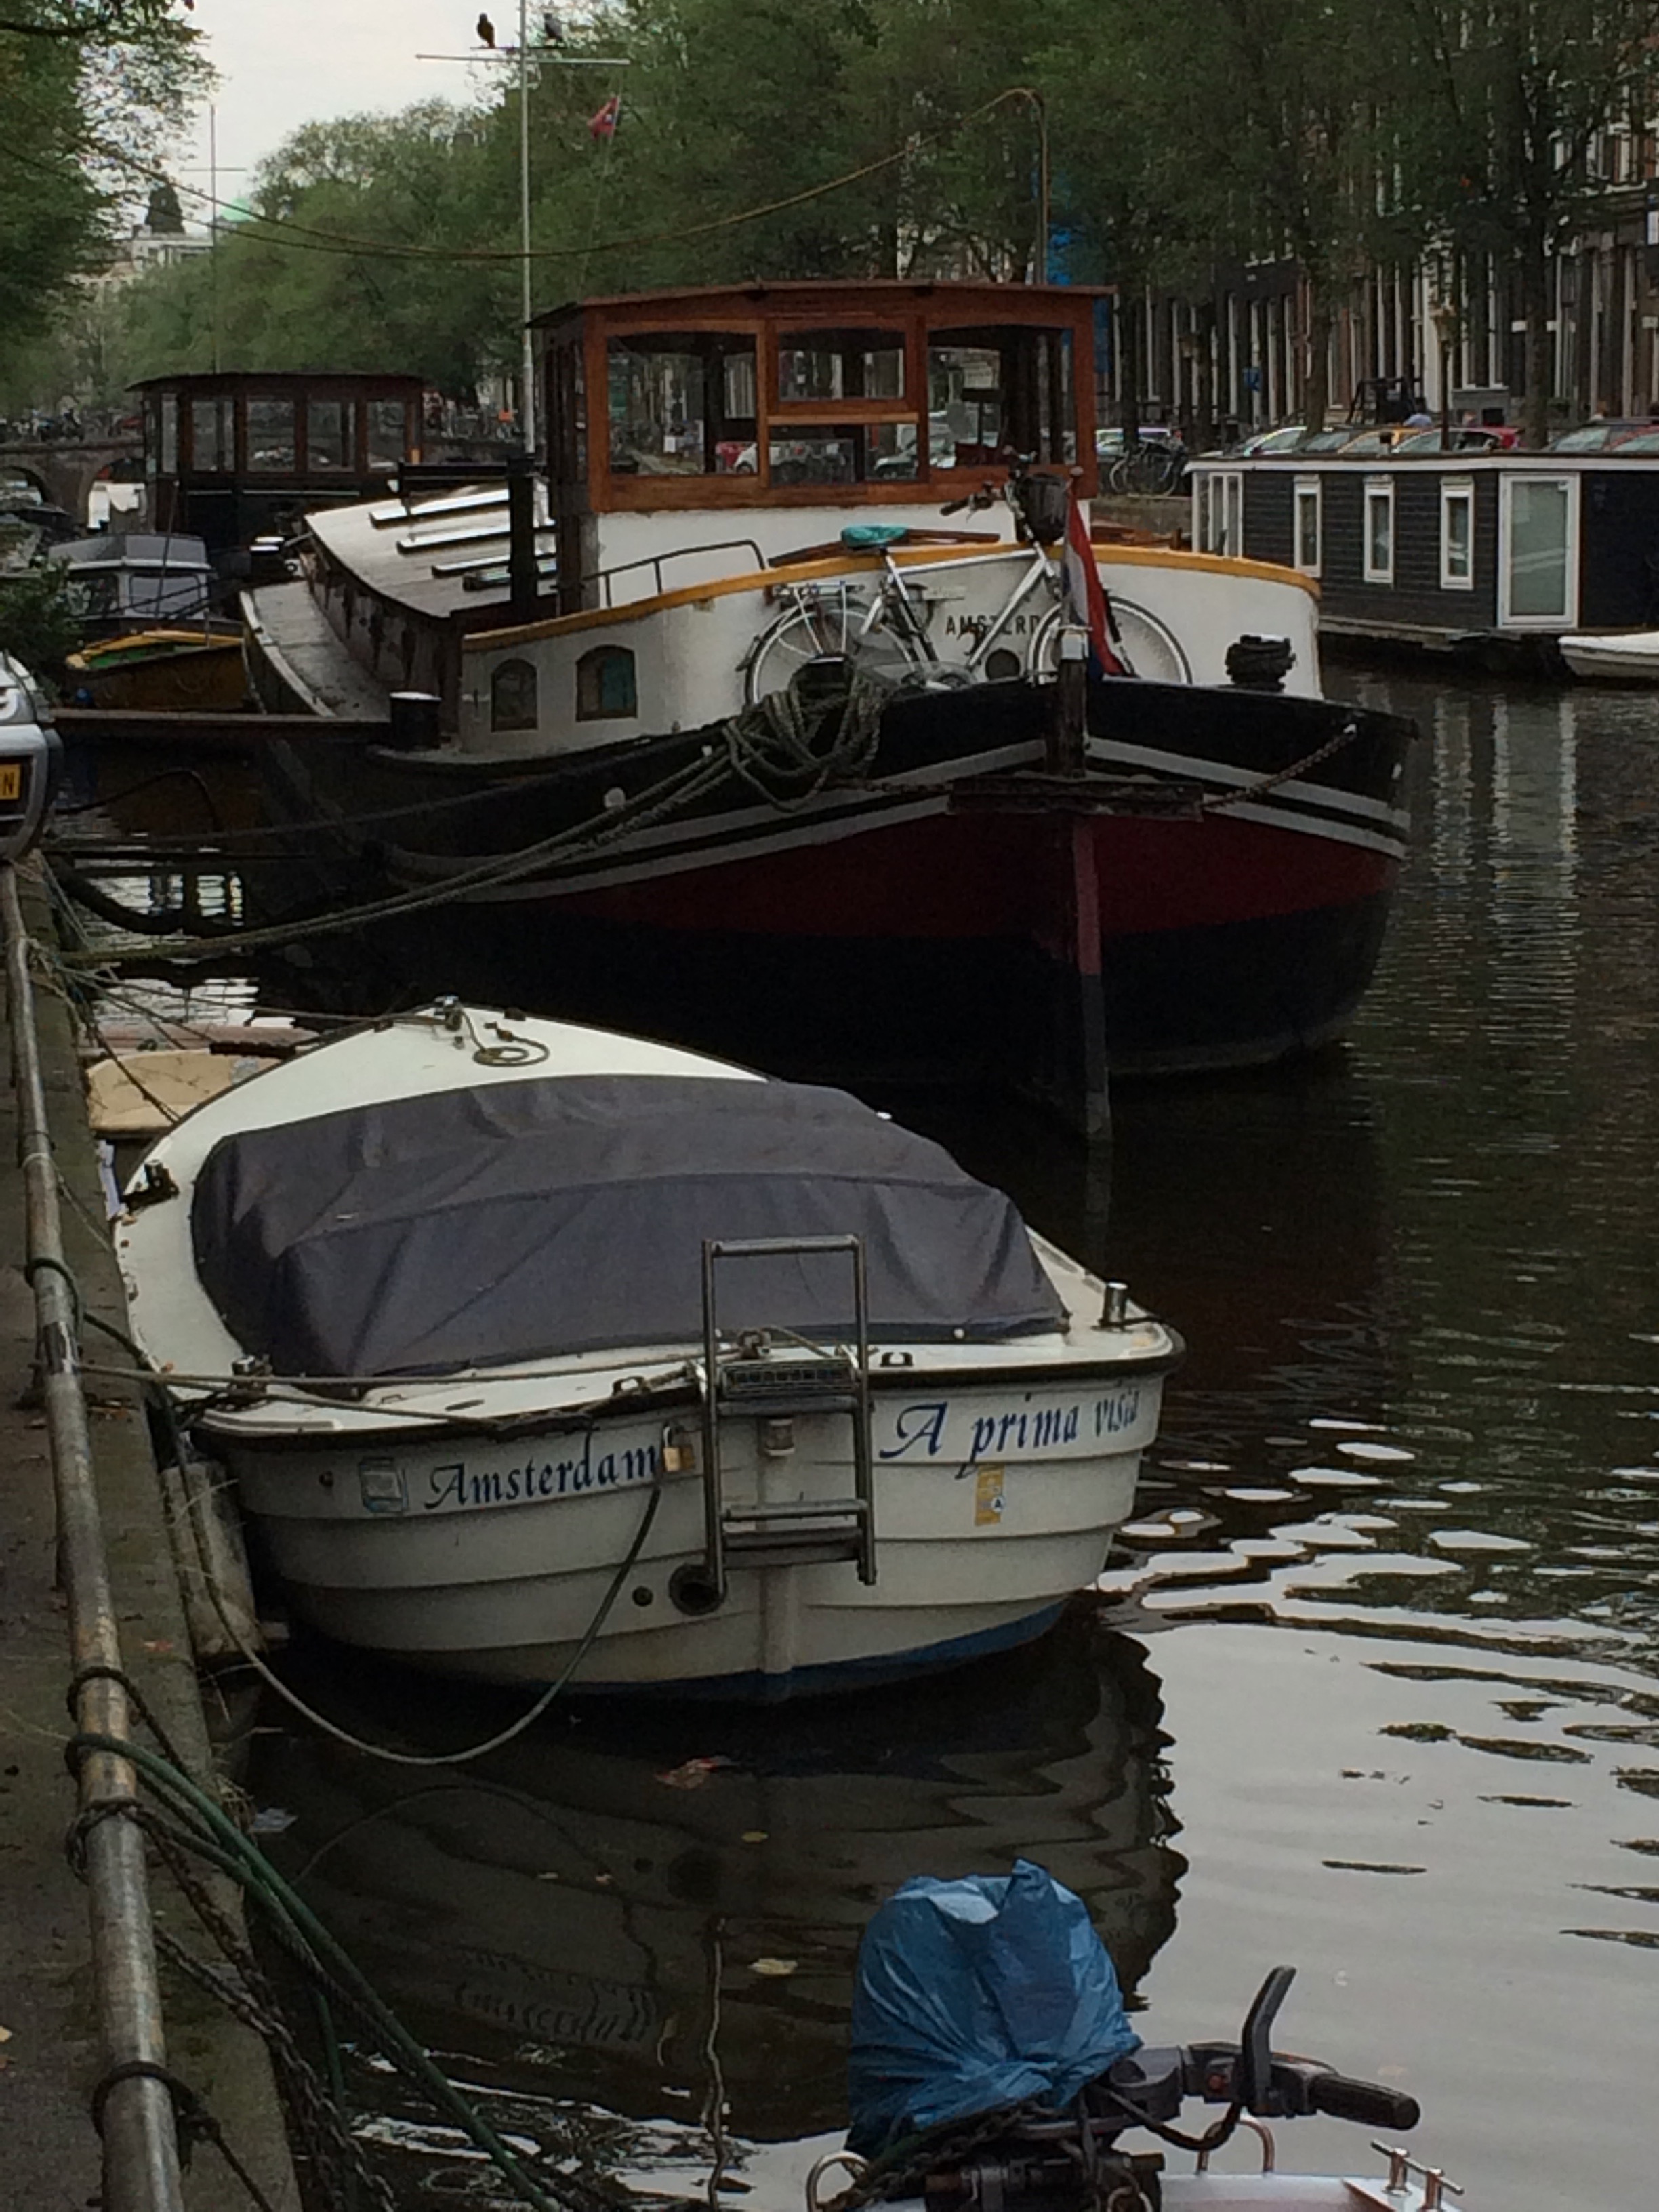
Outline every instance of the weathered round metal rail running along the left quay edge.
MULTIPOLYGON (((33 1270, 38 1354, 46 1407, 46 1440, 58 1502, 58 1562, 69 1595, 69 1648, 75 1668, 119 1668, 122 1641, 104 1557, 104 1531, 93 1486, 93 1444, 80 1391, 75 1301, 64 1270, 58 1177, 46 1126, 46 1088, 35 1035, 29 980, 29 938, 18 902, 15 872, 0 867, 0 922, 7 942, 7 1002, 11 1062, 18 1091, 18 1164, 24 1179, 27 1248, 33 1270)), ((86 1681, 75 1697, 75 1721, 102 1736, 128 1734, 126 1692, 117 1681, 86 1681)), ((80 1805, 137 1803, 137 1781, 126 1759, 93 1752, 80 1761, 80 1805)), ((86 1827, 86 1887, 91 1896, 93 1980, 104 2070, 166 2066, 161 1995, 155 1975, 150 1893, 144 1876, 144 1836, 124 1814, 86 1827)), ((179 2139, 173 2097, 164 2081, 131 2075, 104 2099, 106 2212, 184 2212, 179 2139)))

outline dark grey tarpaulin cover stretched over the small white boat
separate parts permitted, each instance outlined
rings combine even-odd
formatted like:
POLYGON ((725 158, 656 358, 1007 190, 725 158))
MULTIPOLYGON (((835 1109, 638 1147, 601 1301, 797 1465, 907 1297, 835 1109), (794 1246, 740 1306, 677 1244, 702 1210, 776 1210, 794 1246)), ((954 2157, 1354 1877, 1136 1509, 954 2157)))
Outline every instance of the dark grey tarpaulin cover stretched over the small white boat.
MULTIPOLYGON (((701 1343, 703 1239, 863 1237, 872 1336, 1053 1329, 1000 1190, 841 1091, 710 1075, 542 1077, 221 1137, 201 1285, 279 1374, 701 1343)), ((721 1327, 852 1329, 845 1254, 721 1263, 721 1327)))

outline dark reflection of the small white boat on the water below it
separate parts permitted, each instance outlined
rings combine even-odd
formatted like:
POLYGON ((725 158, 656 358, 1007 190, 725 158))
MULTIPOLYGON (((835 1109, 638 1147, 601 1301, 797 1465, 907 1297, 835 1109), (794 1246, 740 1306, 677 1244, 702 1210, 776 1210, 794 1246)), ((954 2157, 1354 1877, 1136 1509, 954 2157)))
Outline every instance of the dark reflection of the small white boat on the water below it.
MULTIPOLYGON (((323 1659, 314 1694, 341 1717, 323 1659)), ((376 1741, 476 1741, 500 1705, 354 1668, 376 1741)), ((283 1736, 272 1856, 427 2042, 502 2090, 739 2137, 845 2119, 858 1936, 911 1874, 1033 1856, 1077 1889, 1133 1997, 1183 1860, 1139 1644, 1068 1617, 1040 1648, 787 1717, 555 1714, 482 1767, 407 1770, 283 1736)))

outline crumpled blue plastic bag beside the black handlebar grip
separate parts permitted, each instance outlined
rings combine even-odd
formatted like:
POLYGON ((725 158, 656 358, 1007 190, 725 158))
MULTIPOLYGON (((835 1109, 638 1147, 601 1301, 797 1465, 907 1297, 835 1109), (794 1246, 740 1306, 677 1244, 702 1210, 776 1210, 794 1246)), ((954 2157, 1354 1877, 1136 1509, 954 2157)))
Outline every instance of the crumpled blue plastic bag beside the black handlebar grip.
POLYGON ((1084 1900, 1029 1858, 929 1874, 865 1929, 852 1993, 852 2128, 874 2157, 1004 2104, 1064 2106, 1139 2046, 1084 1900))

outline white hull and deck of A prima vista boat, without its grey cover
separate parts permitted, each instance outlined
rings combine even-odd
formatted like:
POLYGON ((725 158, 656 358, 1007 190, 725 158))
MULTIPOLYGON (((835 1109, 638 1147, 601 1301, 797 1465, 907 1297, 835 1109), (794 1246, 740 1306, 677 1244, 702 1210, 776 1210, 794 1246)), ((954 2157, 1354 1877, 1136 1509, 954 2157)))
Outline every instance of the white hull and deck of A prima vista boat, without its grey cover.
MULTIPOLYGON (((239 1378, 248 1345, 204 1287, 190 1228, 190 1194, 221 1137, 363 1097, 436 1106, 445 1093, 544 1075, 717 1077, 734 1110, 765 1091, 743 1068, 644 1040, 427 1013, 254 1075, 148 1155, 117 1230, 133 1329, 175 1376, 197 1449, 230 1469, 303 1619, 484 1681, 557 1681, 582 1655, 573 1683, 584 1690, 774 1699, 1024 1641, 1093 1584, 1133 1511, 1181 1343, 1133 1307, 1102 1318, 1104 1285, 1035 1237, 1057 1294, 1051 1327, 869 1347, 874 1544, 863 1557, 860 1416, 841 1385, 825 1409, 812 1380, 787 1380, 801 1365, 787 1332, 783 1387, 803 1396, 763 1389, 748 1409, 721 1398, 710 1486, 699 1340, 378 1380, 239 1378), (146 1190, 148 1175, 159 1183, 146 1190)), ((389 1296, 394 1279, 376 1281, 389 1296)))

